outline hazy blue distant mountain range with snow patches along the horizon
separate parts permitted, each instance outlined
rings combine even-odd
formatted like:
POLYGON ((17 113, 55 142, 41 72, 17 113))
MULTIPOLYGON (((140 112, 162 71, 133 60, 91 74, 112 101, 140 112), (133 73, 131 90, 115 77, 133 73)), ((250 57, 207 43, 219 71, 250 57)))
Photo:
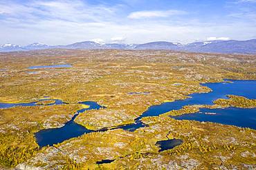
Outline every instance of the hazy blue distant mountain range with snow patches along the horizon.
POLYGON ((26 50, 44 50, 53 48, 63 49, 117 49, 117 50, 175 50, 185 52, 212 52, 212 53, 238 53, 238 54, 256 54, 256 39, 246 41, 199 41, 188 44, 171 43, 167 41, 154 41, 143 44, 124 44, 124 43, 95 43, 93 41, 83 41, 69 45, 46 45, 42 43, 33 43, 30 45, 0 45, 0 52, 26 51, 26 50))

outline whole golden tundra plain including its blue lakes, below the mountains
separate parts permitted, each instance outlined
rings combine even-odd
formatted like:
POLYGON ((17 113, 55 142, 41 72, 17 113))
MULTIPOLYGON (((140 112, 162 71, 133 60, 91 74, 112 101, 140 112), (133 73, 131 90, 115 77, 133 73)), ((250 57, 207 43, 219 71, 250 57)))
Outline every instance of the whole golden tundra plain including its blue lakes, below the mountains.
POLYGON ((0 169, 256 169, 255 57, 2 52, 0 169))

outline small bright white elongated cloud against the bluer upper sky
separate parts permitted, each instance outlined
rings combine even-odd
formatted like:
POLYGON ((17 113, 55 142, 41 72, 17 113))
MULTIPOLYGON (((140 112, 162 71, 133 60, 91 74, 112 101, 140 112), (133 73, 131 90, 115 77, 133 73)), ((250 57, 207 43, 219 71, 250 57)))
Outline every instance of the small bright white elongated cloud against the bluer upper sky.
POLYGON ((143 19, 143 18, 152 18, 152 17, 170 17, 177 14, 185 14, 186 12, 180 10, 145 10, 131 12, 128 15, 129 19, 143 19))

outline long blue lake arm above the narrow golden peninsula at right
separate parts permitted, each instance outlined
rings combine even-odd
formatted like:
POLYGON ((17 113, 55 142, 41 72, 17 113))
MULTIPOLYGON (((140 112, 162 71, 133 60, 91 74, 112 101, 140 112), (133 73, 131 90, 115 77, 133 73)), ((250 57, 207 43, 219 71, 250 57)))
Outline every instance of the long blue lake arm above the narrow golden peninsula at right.
POLYGON ((228 98, 226 95, 232 94, 244 96, 246 98, 256 98, 256 81, 232 81, 233 83, 204 83, 212 89, 210 93, 190 94, 190 98, 185 100, 176 100, 170 103, 162 103, 149 107, 138 119, 145 116, 158 116, 167 111, 181 109, 185 105, 212 105, 214 100, 218 98, 228 98))

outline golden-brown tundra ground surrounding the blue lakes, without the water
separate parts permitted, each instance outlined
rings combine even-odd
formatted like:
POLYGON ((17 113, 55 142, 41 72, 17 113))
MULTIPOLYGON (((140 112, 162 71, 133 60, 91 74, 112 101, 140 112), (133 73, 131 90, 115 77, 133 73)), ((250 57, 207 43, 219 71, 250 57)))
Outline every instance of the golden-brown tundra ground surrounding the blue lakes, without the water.
MULTIPOLYGON (((135 118, 152 105, 182 100, 192 93, 210 92, 208 87, 203 87, 200 83, 220 82, 223 78, 256 79, 255 65, 253 55, 164 50, 39 50, 0 53, 0 68, 7 69, 0 72, 1 102, 28 103, 51 96, 53 99, 61 98, 66 103, 71 103, 0 109, 0 164, 4 167, 15 167, 30 158, 32 159, 27 163, 36 167, 47 165, 56 168, 59 164, 66 169, 79 169, 80 165, 85 169, 86 166, 95 169, 165 169, 170 161, 181 165, 187 164, 189 158, 201 162, 196 167, 199 169, 214 166, 220 168, 221 164, 228 169, 232 169, 230 164, 242 169, 242 162, 256 164, 250 155, 256 154, 256 142, 253 137, 255 131, 214 123, 178 121, 168 118, 167 115, 144 118, 143 121, 149 127, 138 129, 134 133, 113 130, 73 138, 57 145, 66 154, 62 155, 63 153, 57 150, 56 158, 42 164, 36 164, 37 160, 42 160, 39 159, 39 154, 46 153, 46 156, 51 156, 50 149, 53 148, 37 150, 33 136, 36 131, 47 126, 63 125, 71 119, 77 109, 87 108, 78 105, 80 101, 95 101, 107 108, 85 111, 75 118, 75 122, 89 129, 116 127, 133 123, 135 118), (28 67, 31 65, 60 63, 68 63, 73 67, 41 69, 38 74, 28 74, 28 67), (129 95, 130 92, 147 94, 129 95), (154 142, 166 140, 167 134, 173 138, 182 138, 185 142, 176 149, 158 153, 154 142), (233 141, 232 138, 235 138, 235 143, 230 142, 233 141), (123 142, 127 147, 118 148, 120 143, 115 145, 116 142, 123 142), (99 146, 109 152, 98 152, 99 146), (26 151, 28 155, 24 154, 26 151), (246 155, 246 151, 250 154, 242 157, 241 154, 246 155), (147 152, 150 154, 147 155, 147 152), (188 160, 185 160, 187 154, 188 160), (16 155, 21 157, 17 158, 16 155), (79 161, 74 160, 74 155, 79 161), (226 160, 221 160, 220 156, 226 160), (117 160, 110 165, 95 164, 95 161, 112 158, 117 160), (51 164, 53 162, 56 164, 51 164)), ((221 101, 221 105, 223 102, 221 101)), ((234 102, 225 100, 224 103, 233 105, 234 102)), ((187 106, 172 114, 183 114, 198 109, 199 107, 187 106)))

